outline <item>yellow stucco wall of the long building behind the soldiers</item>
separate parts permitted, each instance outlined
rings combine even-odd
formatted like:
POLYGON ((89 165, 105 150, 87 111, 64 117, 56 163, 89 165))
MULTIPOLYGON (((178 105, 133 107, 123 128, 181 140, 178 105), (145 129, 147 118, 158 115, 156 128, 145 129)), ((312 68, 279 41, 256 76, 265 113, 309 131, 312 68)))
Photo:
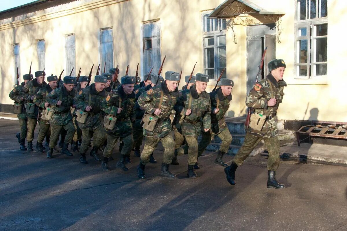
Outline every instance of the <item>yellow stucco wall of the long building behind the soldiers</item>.
MULTIPOLYGON (((269 1, 269 0, 267 0, 269 1)), ((14 83, 14 60, 12 44, 20 44, 21 75, 29 70, 37 70, 36 40, 45 39, 46 73, 59 75, 65 69, 65 37, 76 35, 76 65, 82 67, 87 75, 94 64, 93 74, 100 62, 99 31, 113 27, 114 63, 119 63, 121 75, 129 64, 129 74, 135 74, 136 65, 141 66, 141 26, 143 21, 160 19, 161 55, 167 55, 163 72, 183 70, 183 76, 189 75, 195 62, 195 73, 203 72, 202 47, 202 11, 217 7, 222 0, 128 0, 99 1, 81 4, 75 9, 60 12, 60 17, 41 20, 37 23, 2 29, 0 25, 0 103, 11 104, 8 97, 14 83), (76 13, 77 12, 77 13, 76 13)), ((346 46, 342 45, 341 30, 347 15, 347 2, 328 1, 328 76, 324 81, 295 80, 294 62, 294 14, 295 1, 283 0, 279 11, 285 11, 282 17, 282 42, 277 44, 276 56, 286 61, 284 79, 288 83, 285 97, 280 106, 280 119, 319 119, 324 121, 347 121, 347 103, 342 96, 346 85, 346 46), (324 83, 324 84, 311 84, 324 83), (308 107, 307 107, 308 105, 308 107), (307 108, 307 110, 306 110, 307 108), (318 111, 316 118, 310 117, 318 111)), ((54 14, 52 14, 54 15, 54 14)), ((52 17, 45 16, 43 19, 52 17)), ((232 31, 227 31, 227 69, 228 78, 233 79, 233 100, 227 116, 245 114, 246 97, 246 27, 234 27, 237 44, 232 42, 232 31)), ((258 65, 258 64, 256 64, 258 65)), ((68 70, 69 71, 69 70, 68 70)), ((67 72, 64 72, 67 74, 67 72)), ((145 73, 141 73, 142 75, 145 73)), ((210 91, 213 87, 207 90, 210 91)), ((181 83, 183 85, 183 82, 181 83)))

